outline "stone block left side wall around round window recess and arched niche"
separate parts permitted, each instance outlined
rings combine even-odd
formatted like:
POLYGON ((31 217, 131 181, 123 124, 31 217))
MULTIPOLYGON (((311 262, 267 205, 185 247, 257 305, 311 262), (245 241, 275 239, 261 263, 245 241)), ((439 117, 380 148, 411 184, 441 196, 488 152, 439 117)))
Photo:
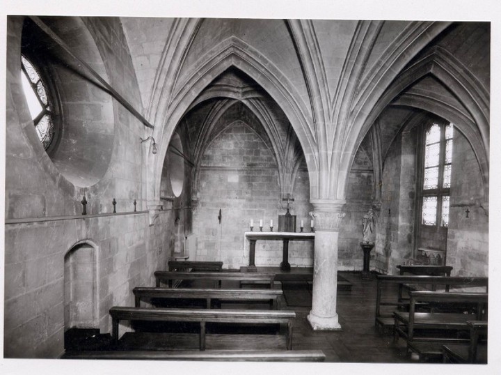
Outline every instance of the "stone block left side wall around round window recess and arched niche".
MULTIPOLYGON (((65 30, 84 27, 86 35, 92 35, 109 82, 134 107, 141 109, 120 21, 101 18, 84 23, 86 26, 79 19, 74 23, 65 19, 65 30)), ((143 211, 146 203, 142 173, 143 152, 149 152, 149 148, 143 148, 139 141, 139 137, 145 138, 145 127, 116 100, 110 100, 111 118, 108 118, 113 128, 108 145, 111 155, 97 160, 100 168, 104 166, 102 178, 97 183, 79 186, 58 169, 52 161, 54 155, 47 155, 35 134, 22 92, 19 63, 22 24, 22 17, 9 17, 4 355, 57 358, 63 352, 63 333, 68 328, 64 320, 65 254, 82 243, 93 247, 97 283, 93 286, 97 294, 93 297, 93 326, 111 332, 109 308, 132 305, 132 288, 153 285, 154 270, 165 269, 176 238, 175 211, 170 209, 173 204, 167 202, 166 210, 160 211, 154 225, 150 225, 150 217, 143 211), (84 194, 88 215, 109 215, 81 217, 80 201, 84 194), (118 215, 112 214, 113 198, 117 201, 118 215), (134 199, 138 213, 130 213, 134 211, 134 199), (13 221, 18 219, 21 222, 13 221)), ((78 37, 78 33, 72 35, 78 37)), ((85 53, 85 45, 80 46, 79 52, 85 53)), ((99 61, 95 63, 100 66, 99 61)), ((80 127, 82 135, 93 129, 92 123, 79 121, 79 111, 95 111, 94 103, 86 109, 88 95, 109 98, 109 94, 97 92, 87 75, 88 72, 83 72, 73 82, 79 86, 81 95, 77 95, 73 86, 71 105, 63 103, 63 132, 65 126, 80 127)), ((86 153, 92 156, 92 144, 88 146, 86 153)), ((74 154, 67 158, 79 160, 77 152, 75 148, 74 154)), ((71 168, 76 164, 66 165, 71 168)), ((191 201, 189 189, 184 194, 179 199, 191 201)))

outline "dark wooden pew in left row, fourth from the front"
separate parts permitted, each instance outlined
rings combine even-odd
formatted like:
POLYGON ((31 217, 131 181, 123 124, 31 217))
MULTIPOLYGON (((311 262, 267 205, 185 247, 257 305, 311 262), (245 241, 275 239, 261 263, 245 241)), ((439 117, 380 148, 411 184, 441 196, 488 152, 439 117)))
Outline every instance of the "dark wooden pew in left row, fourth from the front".
POLYGON ((275 280, 274 273, 241 273, 241 272, 170 272, 156 271, 154 273, 156 286, 161 286, 161 283, 168 282, 168 286, 172 287, 173 280, 209 280, 214 281, 214 288, 221 288, 223 280, 237 281, 260 281, 267 282, 269 288, 273 289, 275 280))

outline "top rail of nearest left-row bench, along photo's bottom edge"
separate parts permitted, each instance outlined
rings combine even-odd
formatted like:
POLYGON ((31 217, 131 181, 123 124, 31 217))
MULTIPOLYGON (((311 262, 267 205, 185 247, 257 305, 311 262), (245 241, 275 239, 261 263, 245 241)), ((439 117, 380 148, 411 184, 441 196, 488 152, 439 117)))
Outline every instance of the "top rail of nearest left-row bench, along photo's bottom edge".
POLYGON ((211 360, 253 362, 324 362, 320 350, 299 351, 75 351, 67 352, 63 359, 95 360, 211 360))

